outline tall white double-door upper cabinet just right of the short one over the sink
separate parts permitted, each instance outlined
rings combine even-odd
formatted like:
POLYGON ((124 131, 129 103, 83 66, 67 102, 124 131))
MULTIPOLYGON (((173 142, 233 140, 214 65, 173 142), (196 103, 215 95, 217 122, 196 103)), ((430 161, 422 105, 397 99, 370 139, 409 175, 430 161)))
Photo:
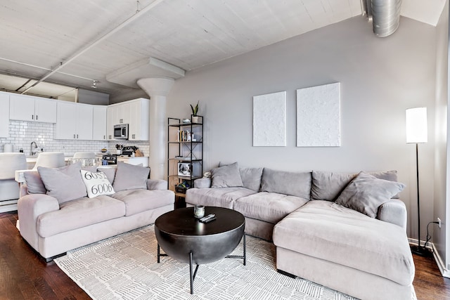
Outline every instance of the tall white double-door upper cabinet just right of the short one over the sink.
POLYGON ((92 105, 58 102, 54 138, 92 140, 94 110, 92 105))

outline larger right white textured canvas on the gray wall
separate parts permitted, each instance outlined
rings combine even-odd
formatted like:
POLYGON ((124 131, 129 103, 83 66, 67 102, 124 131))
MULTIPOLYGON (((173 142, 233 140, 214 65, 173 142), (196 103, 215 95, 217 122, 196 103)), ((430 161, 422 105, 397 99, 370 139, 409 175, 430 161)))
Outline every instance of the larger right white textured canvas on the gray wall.
POLYGON ((297 147, 340 146, 340 82, 297 89, 297 147))

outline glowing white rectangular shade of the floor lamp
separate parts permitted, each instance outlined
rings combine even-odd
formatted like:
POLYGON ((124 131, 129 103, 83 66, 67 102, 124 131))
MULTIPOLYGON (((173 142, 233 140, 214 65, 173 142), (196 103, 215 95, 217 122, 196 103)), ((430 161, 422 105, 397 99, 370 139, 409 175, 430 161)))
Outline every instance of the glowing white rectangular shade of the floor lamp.
POLYGON ((406 110, 406 143, 427 143, 427 107, 406 110))

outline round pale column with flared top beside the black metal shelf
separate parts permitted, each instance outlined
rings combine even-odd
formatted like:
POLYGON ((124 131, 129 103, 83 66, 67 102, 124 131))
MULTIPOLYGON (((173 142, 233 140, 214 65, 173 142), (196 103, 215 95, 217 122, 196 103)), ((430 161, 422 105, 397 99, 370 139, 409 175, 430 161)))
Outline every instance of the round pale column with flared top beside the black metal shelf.
POLYGON ((165 164, 167 147, 167 101, 166 96, 175 79, 168 77, 142 78, 137 84, 150 96, 150 178, 166 179, 165 164))

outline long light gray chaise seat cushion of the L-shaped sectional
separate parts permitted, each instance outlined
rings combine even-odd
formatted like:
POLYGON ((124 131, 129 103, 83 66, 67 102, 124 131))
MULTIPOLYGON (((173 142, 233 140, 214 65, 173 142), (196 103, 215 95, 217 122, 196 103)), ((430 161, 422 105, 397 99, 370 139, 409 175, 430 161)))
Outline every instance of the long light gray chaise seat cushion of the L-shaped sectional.
POLYGON ((274 227, 274 244, 411 285, 414 262, 405 230, 335 202, 311 200, 274 227))

